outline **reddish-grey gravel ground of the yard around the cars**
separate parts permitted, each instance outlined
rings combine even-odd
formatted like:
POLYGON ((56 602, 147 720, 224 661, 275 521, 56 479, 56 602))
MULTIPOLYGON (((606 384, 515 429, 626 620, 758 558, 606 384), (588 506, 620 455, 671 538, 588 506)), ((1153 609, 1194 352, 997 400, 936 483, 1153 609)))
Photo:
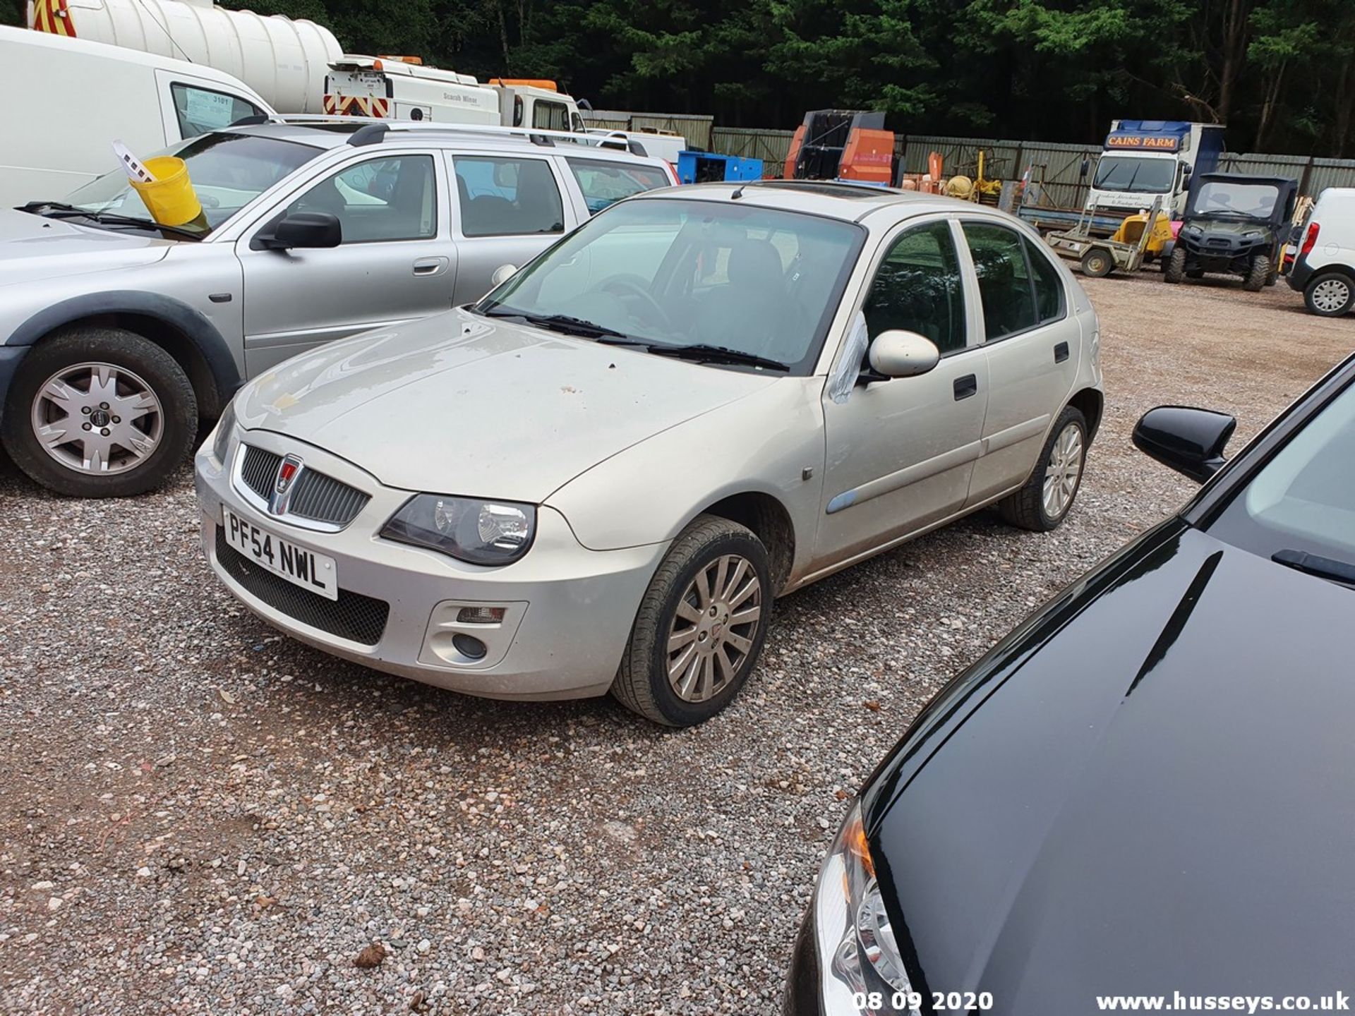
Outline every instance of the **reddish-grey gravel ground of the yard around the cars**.
POLYGON ((1069 522, 981 515, 782 600, 743 696, 680 733, 279 637, 217 588, 187 471, 81 503, 0 463, 0 1009, 774 1011, 843 801, 951 673, 1188 496, 1131 448, 1138 415, 1215 406, 1245 438, 1355 348, 1285 286, 1088 289, 1110 408, 1069 522))

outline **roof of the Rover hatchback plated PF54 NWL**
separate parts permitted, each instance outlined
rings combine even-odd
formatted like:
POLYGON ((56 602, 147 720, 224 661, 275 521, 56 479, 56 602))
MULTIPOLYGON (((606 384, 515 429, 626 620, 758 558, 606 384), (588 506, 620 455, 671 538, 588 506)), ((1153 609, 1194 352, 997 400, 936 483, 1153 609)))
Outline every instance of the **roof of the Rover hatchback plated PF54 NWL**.
POLYGON ((835 180, 751 180, 748 183, 696 183, 665 191, 646 191, 630 200, 680 198, 684 200, 737 200, 759 207, 805 211, 846 222, 859 222, 878 211, 894 210, 901 215, 925 211, 995 211, 969 200, 939 194, 901 191, 894 187, 839 183, 835 180))

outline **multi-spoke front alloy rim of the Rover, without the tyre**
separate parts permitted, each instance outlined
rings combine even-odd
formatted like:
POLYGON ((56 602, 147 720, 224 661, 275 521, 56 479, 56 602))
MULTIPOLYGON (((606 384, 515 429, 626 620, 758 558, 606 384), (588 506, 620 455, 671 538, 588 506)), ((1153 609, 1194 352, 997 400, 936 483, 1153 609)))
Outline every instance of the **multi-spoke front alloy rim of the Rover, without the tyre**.
POLYGON ((748 661, 762 620, 757 569, 738 554, 702 565, 668 629, 668 683, 683 702, 705 702, 748 661))

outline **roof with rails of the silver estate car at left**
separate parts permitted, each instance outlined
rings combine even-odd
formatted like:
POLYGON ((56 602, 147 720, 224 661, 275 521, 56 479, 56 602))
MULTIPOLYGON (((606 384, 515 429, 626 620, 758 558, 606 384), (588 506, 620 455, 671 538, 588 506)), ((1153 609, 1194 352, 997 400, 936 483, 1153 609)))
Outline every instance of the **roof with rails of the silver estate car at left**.
POLYGON ((649 156, 637 156, 631 152, 621 152, 614 148, 600 148, 585 142, 570 144, 561 138, 556 144, 554 137, 547 134, 537 135, 533 140, 527 134, 514 134, 501 127, 478 127, 473 123, 405 123, 402 121, 379 121, 362 117, 333 117, 308 119, 278 119, 267 122, 247 122, 226 127, 232 134, 251 134, 255 137, 278 138, 280 141, 294 141, 321 149, 336 149, 358 142, 358 148, 378 149, 382 145, 417 145, 428 148, 449 148, 459 150, 484 152, 522 152, 537 153, 553 152, 556 154, 583 156, 587 158, 612 160, 619 163, 646 163, 661 165, 663 160, 649 156), (385 127, 383 131, 369 131, 370 141, 358 138, 358 131, 363 127, 385 127))

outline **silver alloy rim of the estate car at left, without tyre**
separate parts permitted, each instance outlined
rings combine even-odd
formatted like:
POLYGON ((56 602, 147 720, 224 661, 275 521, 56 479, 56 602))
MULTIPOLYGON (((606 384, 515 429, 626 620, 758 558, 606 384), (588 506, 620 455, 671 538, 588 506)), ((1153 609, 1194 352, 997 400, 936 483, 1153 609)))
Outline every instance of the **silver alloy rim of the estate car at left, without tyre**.
POLYGON ((33 400, 42 450, 77 473, 136 469, 159 447, 165 415, 137 374, 111 363, 76 363, 47 378, 33 400))

